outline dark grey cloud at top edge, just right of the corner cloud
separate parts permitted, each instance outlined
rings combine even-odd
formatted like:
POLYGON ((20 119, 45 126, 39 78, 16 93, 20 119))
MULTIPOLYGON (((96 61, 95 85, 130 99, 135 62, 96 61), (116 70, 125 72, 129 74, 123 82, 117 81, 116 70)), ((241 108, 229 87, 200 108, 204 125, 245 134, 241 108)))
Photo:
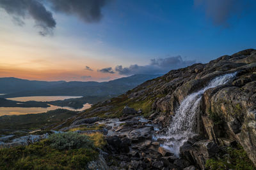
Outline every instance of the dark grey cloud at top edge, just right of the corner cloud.
POLYGON ((55 11, 75 15, 84 22, 99 22, 101 8, 109 0, 49 0, 55 11))

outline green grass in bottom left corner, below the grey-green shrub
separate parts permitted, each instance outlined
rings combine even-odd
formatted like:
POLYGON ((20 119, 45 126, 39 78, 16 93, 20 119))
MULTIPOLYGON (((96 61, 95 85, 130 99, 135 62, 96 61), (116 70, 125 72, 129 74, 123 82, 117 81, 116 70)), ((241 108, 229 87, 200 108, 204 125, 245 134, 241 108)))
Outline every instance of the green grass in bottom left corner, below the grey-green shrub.
POLYGON ((58 150, 49 140, 0 149, 0 169, 86 169, 99 153, 95 148, 58 150))

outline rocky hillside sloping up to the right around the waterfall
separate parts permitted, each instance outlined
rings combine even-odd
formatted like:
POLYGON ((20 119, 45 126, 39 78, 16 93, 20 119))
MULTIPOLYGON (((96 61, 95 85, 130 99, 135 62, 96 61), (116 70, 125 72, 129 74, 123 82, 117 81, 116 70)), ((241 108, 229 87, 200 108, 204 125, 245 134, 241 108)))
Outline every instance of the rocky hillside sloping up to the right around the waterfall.
POLYGON ((104 124, 105 130, 101 131, 107 134, 105 151, 106 159, 111 157, 110 167, 205 169, 207 163, 207 168, 214 169, 214 161, 216 164, 223 161, 221 166, 226 168, 250 169, 252 162, 256 166, 255 118, 256 50, 248 49, 223 55, 207 64, 172 70, 122 96, 95 104, 54 129, 65 131, 79 125, 95 125, 95 122, 104 124), (180 157, 162 147, 166 139, 157 136, 168 135, 166 132, 182 101, 204 89, 214 78, 228 73, 235 76, 202 93, 194 118, 195 135, 183 141, 180 157), (246 165, 234 163, 236 154, 232 155, 230 150, 241 153, 244 150, 246 154, 238 160, 247 157, 250 160, 246 165))

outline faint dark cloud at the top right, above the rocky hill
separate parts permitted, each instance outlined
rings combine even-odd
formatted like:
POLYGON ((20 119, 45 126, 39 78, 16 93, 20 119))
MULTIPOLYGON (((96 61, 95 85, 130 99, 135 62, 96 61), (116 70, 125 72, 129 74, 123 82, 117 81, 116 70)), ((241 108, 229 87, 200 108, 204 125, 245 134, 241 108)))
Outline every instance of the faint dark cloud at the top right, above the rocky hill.
POLYGON ((203 6, 207 17, 216 25, 228 26, 232 16, 239 17, 248 10, 251 0, 194 0, 195 6, 203 6))

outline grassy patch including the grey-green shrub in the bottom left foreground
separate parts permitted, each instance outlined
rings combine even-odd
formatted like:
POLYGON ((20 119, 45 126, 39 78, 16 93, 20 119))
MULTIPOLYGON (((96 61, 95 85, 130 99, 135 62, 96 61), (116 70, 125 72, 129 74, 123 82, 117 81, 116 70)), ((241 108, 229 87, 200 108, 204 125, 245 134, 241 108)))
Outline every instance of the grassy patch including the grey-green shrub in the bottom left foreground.
POLYGON ((0 169, 86 169, 106 145, 100 133, 66 132, 29 146, 0 148, 0 169))

